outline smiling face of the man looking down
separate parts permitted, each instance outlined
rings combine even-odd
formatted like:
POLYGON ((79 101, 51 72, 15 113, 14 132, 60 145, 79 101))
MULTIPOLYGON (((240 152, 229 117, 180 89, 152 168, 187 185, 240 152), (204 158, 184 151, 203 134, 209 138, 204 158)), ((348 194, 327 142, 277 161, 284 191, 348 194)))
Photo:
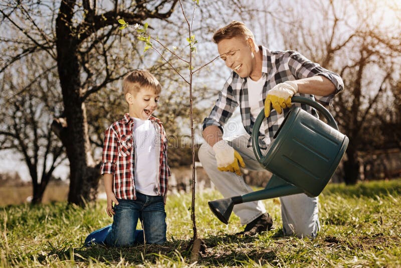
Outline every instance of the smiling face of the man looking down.
POLYGON ((246 37, 223 39, 217 44, 220 58, 241 78, 251 76, 255 69, 253 40, 246 37))

